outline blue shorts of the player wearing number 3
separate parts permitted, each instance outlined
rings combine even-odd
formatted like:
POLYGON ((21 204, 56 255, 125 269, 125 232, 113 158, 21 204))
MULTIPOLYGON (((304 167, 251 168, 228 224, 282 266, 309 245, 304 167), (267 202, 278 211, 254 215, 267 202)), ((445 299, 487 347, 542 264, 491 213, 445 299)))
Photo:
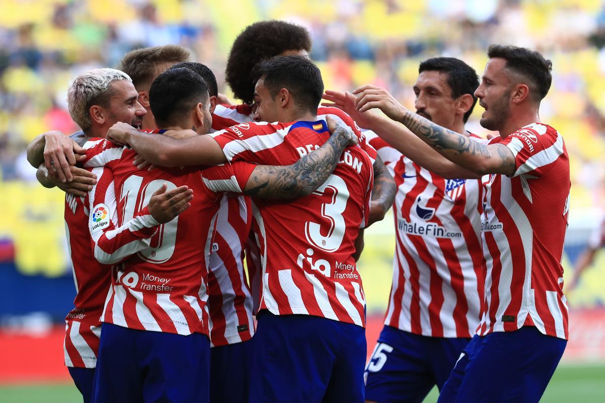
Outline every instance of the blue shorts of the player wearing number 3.
POLYGON ((250 403, 364 402, 365 329, 310 315, 258 315, 250 403))

